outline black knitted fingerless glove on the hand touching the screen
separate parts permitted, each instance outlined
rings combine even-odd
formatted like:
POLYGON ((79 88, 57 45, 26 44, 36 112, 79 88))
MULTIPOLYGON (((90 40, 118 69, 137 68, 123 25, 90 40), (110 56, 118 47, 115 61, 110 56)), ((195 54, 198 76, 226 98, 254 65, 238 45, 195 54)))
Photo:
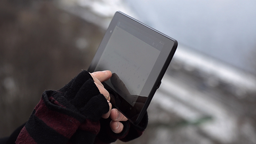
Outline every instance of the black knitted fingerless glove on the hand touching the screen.
POLYGON ((85 118, 98 121, 109 110, 106 98, 100 94, 92 76, 82 71, 58 91, 48 92, 65 107, 79 112, 85 118))

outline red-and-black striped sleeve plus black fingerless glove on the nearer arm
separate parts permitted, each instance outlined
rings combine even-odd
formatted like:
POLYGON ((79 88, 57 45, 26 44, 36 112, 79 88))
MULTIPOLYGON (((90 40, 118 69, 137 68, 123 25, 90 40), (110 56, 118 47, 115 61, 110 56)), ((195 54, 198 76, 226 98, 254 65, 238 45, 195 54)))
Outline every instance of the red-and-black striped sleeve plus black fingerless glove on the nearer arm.
POLYGON ((108 110, 106 98, 82 71, 58 91, 43 92, 16 144, 93 144, 108 110))

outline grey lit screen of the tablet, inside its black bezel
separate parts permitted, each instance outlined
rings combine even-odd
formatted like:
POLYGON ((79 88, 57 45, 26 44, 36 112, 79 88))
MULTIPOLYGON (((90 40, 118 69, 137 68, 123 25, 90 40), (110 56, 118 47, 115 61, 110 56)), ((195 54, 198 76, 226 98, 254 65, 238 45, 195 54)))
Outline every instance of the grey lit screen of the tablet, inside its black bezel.
POLYGON ((123 21, 113 30, 110 39, 95 67, 95 71, 111 70, 113 75, 106 83, 130 105, 141 95, 141 90, 158 59, 163 43, 151 36, 141 36, 139 29, 123 21))

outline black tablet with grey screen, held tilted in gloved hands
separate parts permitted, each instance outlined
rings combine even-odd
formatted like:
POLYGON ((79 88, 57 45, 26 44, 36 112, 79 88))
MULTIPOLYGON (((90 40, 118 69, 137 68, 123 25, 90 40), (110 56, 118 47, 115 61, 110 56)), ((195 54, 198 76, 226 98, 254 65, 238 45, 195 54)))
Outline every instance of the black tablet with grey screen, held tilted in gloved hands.
POLYGON ((143 118, 177 48, 177 41, 116 12, 88 69, 110 70, 102 82, 111 103, 133 124, 143 118))

